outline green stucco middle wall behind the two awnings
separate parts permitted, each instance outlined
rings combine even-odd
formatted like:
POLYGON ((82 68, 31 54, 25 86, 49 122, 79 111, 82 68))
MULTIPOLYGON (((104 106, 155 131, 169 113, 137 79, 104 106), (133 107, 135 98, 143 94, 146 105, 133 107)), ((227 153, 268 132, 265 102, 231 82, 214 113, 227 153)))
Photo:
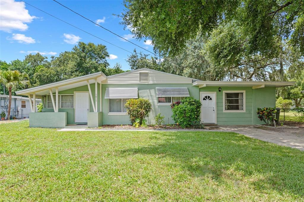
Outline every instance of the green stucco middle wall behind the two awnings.
POLYGON ((102 84, 102 114, 103 124, 130 124, 128 115, 108 115, 109 112, 109 99, 105 99, 106 88, 138 88, 138 94, 140 98, 149 99, 152 103, 153 110, 149 115, 150 123, 154 123, 154 116, 161 113, 165 116, 165 124, 172 124, 174 121, 171 118, 172 111, 170 106, 158 106, 156 97, 156 87, 187 87, 190 96, 195 99, 199 99, 198 86, 192 86, 192 84, 102 84))

